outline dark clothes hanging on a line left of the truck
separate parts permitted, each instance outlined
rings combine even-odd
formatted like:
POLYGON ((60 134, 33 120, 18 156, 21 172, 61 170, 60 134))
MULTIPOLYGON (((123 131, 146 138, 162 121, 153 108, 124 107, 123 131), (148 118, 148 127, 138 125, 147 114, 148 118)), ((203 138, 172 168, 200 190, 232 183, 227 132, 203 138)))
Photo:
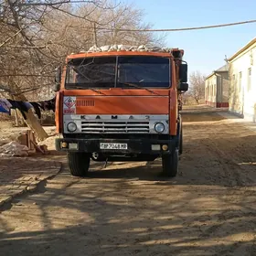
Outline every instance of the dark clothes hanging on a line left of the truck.
POLYGON ((41 119, 41 111, 53 111, 55 112, 56 97, 48 101, 14 101, 10 99, 0 98, 0 112, 11 115, 11 110, 19 110, 26 120, 25 112, 30 109, 34 109, 39 119, 41 119))

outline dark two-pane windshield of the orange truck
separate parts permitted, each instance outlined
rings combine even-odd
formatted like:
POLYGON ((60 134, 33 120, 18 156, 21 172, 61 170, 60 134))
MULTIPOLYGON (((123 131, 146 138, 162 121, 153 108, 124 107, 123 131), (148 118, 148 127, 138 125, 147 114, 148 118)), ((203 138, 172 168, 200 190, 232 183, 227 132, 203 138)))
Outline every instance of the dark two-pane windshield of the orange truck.
POLYGON ((72 59, 67 68, 66 88, 167 88, 170 59, 148 56, 72 59))

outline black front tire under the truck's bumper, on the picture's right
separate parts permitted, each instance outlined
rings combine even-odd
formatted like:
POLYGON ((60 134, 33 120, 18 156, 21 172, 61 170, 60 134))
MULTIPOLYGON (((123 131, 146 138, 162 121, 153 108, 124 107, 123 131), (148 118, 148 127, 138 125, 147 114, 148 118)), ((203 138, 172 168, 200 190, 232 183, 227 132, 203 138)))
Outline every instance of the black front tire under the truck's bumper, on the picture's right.
POLYGON ((176 176, 178 171, 178 149, 170 155, 162 155, 162 167, 164 176, 176 176))

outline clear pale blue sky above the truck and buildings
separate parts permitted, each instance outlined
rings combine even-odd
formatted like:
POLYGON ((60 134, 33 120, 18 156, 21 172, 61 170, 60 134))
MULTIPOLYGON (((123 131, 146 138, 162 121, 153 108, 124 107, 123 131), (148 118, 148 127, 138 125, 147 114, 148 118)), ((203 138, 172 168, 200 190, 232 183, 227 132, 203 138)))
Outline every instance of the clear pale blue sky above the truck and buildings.
MULTIPOLYGON (((256 19, 255 0, 126 0, 144 10, 153 28, 201 27, 256 19)), ((159 32, 155 32, 159 34, 159 32)), ((208 75, 256 37, 256 23, 182 32, 165 32, 169 48, 183 48, 188 73, 208 75)))

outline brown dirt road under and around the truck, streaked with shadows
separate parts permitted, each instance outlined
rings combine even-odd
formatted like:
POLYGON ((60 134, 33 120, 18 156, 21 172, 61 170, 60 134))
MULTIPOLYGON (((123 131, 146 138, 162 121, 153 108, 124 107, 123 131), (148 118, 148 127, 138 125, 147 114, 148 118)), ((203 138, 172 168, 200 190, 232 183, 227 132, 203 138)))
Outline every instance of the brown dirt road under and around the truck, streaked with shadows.
POLYGON ((159 161, 93 164, 87 178, 64 165, 2 209, 0 255, 256 255, 256 133, 207 108, 183 121, 178 176, 159 161))

